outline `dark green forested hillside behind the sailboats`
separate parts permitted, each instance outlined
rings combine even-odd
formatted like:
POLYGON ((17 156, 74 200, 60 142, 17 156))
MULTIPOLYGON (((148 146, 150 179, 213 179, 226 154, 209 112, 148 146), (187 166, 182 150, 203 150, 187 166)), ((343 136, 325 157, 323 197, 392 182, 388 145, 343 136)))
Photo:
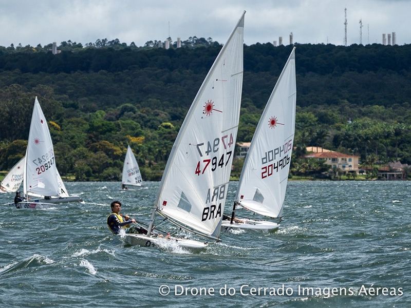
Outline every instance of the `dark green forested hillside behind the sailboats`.
MULTIPOLYGON (((130 144, 143 177, 160 179, 221 46, 63 43, 55 55, 41 46, 0 47, 0 169, 24 155, 38 96, 63 176, 118 180, 130 144)), ((251 140, 291 48, 244 46, 237 141, 251 140)), ((294 166, 302 164, 298 158, 309 145, 359 155, 363 162, 411 164, 410 45, 297 44, 296 72, 294 166)))

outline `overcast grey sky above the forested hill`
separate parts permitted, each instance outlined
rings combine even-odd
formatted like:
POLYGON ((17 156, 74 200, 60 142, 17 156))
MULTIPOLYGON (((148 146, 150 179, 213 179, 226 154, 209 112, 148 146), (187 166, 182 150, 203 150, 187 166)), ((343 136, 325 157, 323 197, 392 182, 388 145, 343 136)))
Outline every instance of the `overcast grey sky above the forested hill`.
POLYGON ((246 45, 279 36, 288 45, 291 32, 294 43, 344 45, 345 8, 348 45, 382 44, 392 32, 398 45, 411 43, 411 0, 0 0, 0 46, 103 38, 144 46, 169 36, 223 44, 244 10, 246 45))

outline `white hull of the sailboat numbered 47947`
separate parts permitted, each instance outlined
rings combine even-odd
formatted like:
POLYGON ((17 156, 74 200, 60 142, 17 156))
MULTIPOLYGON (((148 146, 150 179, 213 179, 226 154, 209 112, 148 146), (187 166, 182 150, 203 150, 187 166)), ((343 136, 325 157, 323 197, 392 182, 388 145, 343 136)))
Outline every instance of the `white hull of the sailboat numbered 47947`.
POLYGON ((207 243, 171 237, 166 239, 164 237, 149 237, 145 234, 126 234, 122 235, 121 239, 128 245, 143 246, 143 247, 158 247, 164 248, 171 245, 178 245, 182 248, 189 249, 204 249, 207 247, 207 243))

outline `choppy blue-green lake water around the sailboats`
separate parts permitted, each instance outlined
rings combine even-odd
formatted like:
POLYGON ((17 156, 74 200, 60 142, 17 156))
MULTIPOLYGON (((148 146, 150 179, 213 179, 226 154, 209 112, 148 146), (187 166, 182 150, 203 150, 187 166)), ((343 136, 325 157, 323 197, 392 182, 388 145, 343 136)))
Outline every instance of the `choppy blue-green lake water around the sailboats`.
POLYGON ((145 184, 66 183, 83 204, 3 207, 0 306, 411 306, 410 182, 290 182, 280 229, 223 234, 196 254, 110 234, 115 199, 148 222, 159 183, 145 184))

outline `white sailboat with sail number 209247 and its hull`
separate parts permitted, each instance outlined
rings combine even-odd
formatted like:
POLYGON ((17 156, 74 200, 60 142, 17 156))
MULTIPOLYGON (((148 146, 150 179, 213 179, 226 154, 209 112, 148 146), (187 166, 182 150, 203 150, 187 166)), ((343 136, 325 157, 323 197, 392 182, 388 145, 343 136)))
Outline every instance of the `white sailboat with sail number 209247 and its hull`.
POLYGON ((53 143, 37 97, 25 157, 23 191, 27 201, 18 202, 16 208, 48 208, 55 203, 82 201, 67 194, 55 167, 53 143))

